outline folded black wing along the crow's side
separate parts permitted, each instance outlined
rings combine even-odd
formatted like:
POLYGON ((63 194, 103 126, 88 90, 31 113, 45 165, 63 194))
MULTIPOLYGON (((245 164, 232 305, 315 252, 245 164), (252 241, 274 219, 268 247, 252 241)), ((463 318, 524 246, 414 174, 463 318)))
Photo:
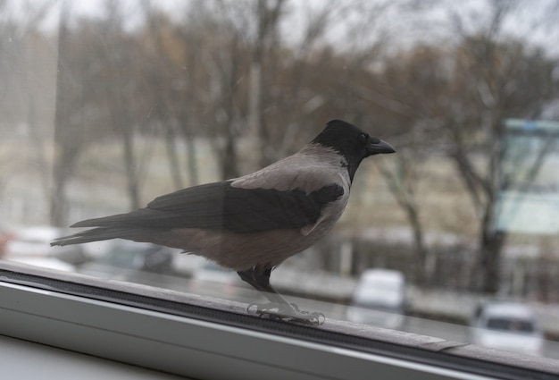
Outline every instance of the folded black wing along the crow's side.
POLYGON ((73 227, 203 228, 238 233, 299 229, 316 223, 322 208, 343 194, 338 184, 307 195, 297 189, 240 189, 229 181, 213 182, 155 198, 146 208, 129 214, 90 219, 73 227))

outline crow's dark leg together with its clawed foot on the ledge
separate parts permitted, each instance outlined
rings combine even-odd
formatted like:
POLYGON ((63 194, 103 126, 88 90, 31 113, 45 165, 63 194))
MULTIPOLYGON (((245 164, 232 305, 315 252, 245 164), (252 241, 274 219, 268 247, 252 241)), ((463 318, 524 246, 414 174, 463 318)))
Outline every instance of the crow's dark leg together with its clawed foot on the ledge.
POLYGON ((248 306, 248 309, 252 310, 255 307, 255 312, 260 317, 321 325, 325 319, 324 315, 299 310, 295 303, 289 303, 271 286, 271 269, 271 266, 254 266, 245 271, 237 272, 243 281, 250 283, 270 300, 270 303, 263 305, 251 304, 248 306))

